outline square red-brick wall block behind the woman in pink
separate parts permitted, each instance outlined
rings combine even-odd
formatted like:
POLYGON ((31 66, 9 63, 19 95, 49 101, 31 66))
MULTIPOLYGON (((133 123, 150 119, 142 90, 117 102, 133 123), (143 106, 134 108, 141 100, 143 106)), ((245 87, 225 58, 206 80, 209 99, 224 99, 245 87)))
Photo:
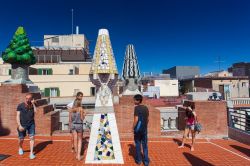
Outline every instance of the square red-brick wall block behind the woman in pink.
MULTIPOLYGON (((193 105, 202 124, 199 137, 222 138, 228 136, 227 104, 225 101, 185 101, 184 106, 193 105)), ((185 128, 185 109, 178 108, 178 129, 185 128)))

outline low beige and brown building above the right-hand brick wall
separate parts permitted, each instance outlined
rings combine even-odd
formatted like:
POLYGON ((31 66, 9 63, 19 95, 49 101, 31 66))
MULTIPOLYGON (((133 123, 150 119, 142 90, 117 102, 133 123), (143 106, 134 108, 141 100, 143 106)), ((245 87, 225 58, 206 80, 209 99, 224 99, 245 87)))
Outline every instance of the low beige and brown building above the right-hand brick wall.
POLYGON ((224 99, 249 97, 248 77, 199 77, 180 81, 181 93, 220 92, 224 99))

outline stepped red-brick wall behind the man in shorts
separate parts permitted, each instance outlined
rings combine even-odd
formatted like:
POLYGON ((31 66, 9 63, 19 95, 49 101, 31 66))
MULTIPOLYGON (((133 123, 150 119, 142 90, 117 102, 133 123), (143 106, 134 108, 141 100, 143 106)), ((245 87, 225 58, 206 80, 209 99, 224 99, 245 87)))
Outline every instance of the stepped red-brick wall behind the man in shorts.
MULTIPOLYGON (((17 135, 16 109, 24 102, 27 93, 28 88, 23 84, 0 86, 0 135, 17 135)), ((38 101, 36 134, 49 136, 59 129, 59 112, 54 112, 52 105, 41 100, 40 93, 33 93, 33 97, 38 101)))

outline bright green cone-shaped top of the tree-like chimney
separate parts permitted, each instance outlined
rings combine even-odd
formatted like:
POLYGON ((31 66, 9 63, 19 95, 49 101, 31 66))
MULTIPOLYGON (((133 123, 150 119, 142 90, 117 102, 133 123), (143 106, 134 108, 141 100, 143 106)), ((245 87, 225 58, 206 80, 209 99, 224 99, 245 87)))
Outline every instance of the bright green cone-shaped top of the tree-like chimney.
POLYGON ((18 27, 9 46, 2 55, 3 61, 10 64, 33 65, 35 56, 23 27, 18 27))

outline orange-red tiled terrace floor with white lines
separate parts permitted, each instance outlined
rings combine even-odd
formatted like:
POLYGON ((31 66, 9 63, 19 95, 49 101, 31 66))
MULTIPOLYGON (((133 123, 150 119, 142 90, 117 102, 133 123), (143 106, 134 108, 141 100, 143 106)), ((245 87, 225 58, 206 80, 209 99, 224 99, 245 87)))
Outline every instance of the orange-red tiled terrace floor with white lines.
MULTIPOLYGON (((29 160, 28 140, 24 142, 24 155, 19 156, 17 154, 18 144, 16 138, 0 137, 0 160, 2 155, 9 156, 1 160, 0 165, 85 165, 87 141, 87 139, 84 141, 83 160, 76 161, 71 153, 70 137, 37 136, 35 147, 36 159, 29 160)), ((183 149, 178 149, 179 142, 180 139, 150 139, 149 156, 151 165, 250 165, 250 146, 234 140, 198 139, 194 152, 191 152, 188 146, 183 149)), ((132 139, 122 139, 121 146, 124 165, 136 165, 133 157, 135 147, 132 139)))

